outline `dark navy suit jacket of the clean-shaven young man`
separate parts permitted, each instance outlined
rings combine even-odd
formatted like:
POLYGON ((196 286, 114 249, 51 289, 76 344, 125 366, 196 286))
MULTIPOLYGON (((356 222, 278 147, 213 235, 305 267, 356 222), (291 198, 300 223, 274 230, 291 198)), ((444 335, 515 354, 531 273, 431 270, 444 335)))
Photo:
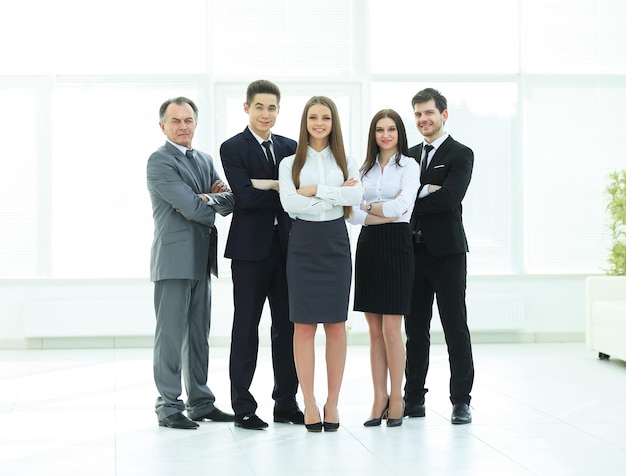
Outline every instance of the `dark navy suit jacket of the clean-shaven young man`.
MULTIPOLYGON (((276 170, 280 161, 296 152, 296 142, 272 134, 276 170)), ((246 261, 259 261, 270 252, 274 237, 274 218, 278 226, 283 252, 286 255, 291 219, 285 213, 278 192, 257 190, 251 179, 271 179, 272 169, 259 142, 246 127, 220 147, 224 174, 235 196, 235 209, 228 232, 224 256, 246 261)))

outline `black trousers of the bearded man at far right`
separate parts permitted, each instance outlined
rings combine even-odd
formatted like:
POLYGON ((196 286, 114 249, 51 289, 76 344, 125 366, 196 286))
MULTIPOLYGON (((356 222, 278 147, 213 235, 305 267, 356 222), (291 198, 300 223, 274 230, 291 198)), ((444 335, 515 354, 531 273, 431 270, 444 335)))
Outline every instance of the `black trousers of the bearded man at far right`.
POLYGON ((470 402, 474 383, 472 344, 467 327, 465 289, 467 259, 465 253, 447 256, 431 255, 426 245, 415 244, 415 279, 411 296, 411 313, 405 316, 406 383, 405 400, 423 404, 430 355, 430 321, 433 303, 443 327, 450 361, 450 400, 470 402))

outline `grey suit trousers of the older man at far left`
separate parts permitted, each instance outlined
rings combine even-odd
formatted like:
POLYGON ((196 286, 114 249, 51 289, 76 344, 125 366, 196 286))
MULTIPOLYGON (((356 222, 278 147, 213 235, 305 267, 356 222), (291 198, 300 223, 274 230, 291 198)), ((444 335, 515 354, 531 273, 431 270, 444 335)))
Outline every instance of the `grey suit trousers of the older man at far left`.
POLYGON ((211 281, 164 279, 154 283, 156 331, 154 382, 159 391, 155 411, 159 420, 187 410, 190 418, 215 408, 207 386, 211 281), (181 371, 187 392, 182 393, 181 371))

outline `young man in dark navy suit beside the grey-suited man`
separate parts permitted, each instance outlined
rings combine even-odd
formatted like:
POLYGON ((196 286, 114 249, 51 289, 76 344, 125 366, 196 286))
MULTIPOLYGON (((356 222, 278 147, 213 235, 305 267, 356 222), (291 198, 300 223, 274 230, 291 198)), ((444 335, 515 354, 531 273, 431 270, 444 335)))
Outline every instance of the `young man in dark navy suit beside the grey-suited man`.
POLYGON ((244 103, 249 125, 220 148, 224 173, 235 196, 225 250, 232 260, 234 298, 231 401, 235 426, 249 430, 268 426, 256 414, 258 405, 250 393, 266 299, 272 320, 274 421, 304 424, 295 397, 298 378, 285 273, 291 219, 280 204, 277 180, 278 165, 283 157, 295 153, 296 142, 271 132, 279 107, 278 86, 266 80, 252 82, 244 103))

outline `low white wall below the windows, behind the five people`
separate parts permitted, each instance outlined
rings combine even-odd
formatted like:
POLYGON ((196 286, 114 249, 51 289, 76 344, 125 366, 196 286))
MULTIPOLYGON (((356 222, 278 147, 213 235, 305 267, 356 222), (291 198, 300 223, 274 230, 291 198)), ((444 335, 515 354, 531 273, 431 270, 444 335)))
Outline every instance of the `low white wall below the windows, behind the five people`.
MULTIPOLYGON (((586 276, 471 276, 468 312, 475 342, 584 340, 586 276), (514 298, 513 322, 505 306, 514 298), (490 306, 496 303, 496 307, 490 306), (519 318, 521 317, 521 319, 519 318)), ((147 280, 2 280, 0 348, 136 347, 152 344, 152 283, 147 280)), ((232 323, 229 277, 213 281, 211 342, 228 345, 232 323)), ((351 343, 367 343, 361 313, 348 320, 351 343)), ((441 341, 433 319, 433 341, 441 341)), ((261 322, 269 340, 267 312, 261 322)))

